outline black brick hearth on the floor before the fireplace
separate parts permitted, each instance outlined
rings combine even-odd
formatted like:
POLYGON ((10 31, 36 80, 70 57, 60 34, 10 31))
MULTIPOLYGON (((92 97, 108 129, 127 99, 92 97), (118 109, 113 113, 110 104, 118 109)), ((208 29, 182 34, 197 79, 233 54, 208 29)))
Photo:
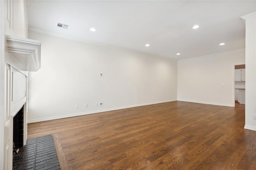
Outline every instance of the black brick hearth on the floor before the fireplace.
POLYGON ((60 170, 52 135, 28 139, 19 149, 13 156, 13 170, 60 170))

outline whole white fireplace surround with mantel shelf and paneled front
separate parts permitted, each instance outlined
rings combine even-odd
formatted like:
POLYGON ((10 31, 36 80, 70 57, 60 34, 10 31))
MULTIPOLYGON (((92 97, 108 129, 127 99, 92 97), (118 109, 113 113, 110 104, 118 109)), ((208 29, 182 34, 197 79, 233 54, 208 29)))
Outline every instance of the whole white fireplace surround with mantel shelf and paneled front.
POLYGON ((5 35, 4 169, 12 169, 13 117, 23 107, 23 145, 27 139, 28 72, 41 67, 41 42, 5 35))

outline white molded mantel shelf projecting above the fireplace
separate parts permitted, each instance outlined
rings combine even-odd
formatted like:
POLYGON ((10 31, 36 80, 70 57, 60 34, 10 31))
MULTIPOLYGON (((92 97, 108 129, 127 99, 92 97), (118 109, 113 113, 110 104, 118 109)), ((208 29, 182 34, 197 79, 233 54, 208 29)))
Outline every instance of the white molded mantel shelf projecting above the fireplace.
POLYGON ((16 68, 22 71, 37 71, 41 67, 40 41, 6 35, 5 51, 12 55, 18 63, 16 68))

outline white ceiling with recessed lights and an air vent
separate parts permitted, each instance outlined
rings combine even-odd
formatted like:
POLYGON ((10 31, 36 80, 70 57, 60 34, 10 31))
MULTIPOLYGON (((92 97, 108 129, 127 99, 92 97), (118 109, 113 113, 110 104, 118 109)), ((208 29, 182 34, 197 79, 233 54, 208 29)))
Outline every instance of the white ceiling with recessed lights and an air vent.
POLYGON ((30 29, 179 60, 243 49, 245 21, 240 17, 255 11, 256 1, 244 0, 34 0, 28 24, 30 29), (58 22, 70 26, 60 28, 58 22), (200 27, 192 29, 194 25, 200 27))

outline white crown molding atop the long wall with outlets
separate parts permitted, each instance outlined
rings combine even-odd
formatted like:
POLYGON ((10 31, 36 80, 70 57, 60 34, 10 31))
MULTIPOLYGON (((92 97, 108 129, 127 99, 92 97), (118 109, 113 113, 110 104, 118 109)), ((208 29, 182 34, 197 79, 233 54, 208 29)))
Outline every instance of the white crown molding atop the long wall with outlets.
POLYGON ((103 44, 103 43, 97 43, 97 42, 89 41, 89 40, 86 40, 86 39, 76 38, 76 37, 72 37, 72 36, 68 36, 68 35, 63 35, 63 34, 59 34, 59 33, 53 33, 53 32, 49 32, 49 31, 44 31, 44 30, 36 29, 36 28, 32 28, 32 27, 29 27, 28 30, 29 31, 38 32, 38 33, 42 33, 42 34, 46 34, 46 35, 52 35, 54 37, 60 37, 60 38, 74 40, 74 41, 80 41, 82 43, 98 45, 98 46, 101 46, 101 47, 108 47, 108 48, 111 48, 111 49, 123 50, 123 51, 132 52, 132 53, 138 53, 138 54, 142 54, 142 55, 150 55, 152 57, 168 59, 168 60, 171 60, 171 61, 177 61, 177 59, 171 59, 171 58, 168 58, 168 57, 163 57, 163 56, 159 56, 159 55, 153 55, 153 54, 145 53, 145 52, 141 52, 141 51, 130 50, 130 49, 126 49, 126 48, 123 48, 123 47, 116 47, 116 46, 113 46, 113 45, 106 45, 106 44, 103 44))

